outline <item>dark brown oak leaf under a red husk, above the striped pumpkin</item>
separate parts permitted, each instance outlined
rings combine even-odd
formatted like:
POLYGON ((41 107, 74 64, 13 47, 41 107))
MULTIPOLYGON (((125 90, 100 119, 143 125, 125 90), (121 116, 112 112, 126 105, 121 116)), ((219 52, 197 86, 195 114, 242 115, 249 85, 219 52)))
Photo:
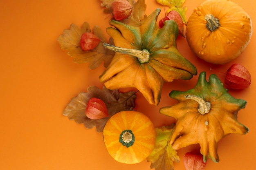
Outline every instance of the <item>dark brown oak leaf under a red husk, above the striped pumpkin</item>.
POLYGON ((87 93, 80 92, 78 96, 71 99, 63 110, 63 115, 74 120, 77 124, 84 124, 88 129, 96 126, 97 132, 102 132, 110 117, 95 120, 85 115, 85 108, 92 97, 99 98, 106 104, 108 114, 111 117, 120 111, 132 110, 135 107, 137 96, 134 91, 120 93, 118 90, 109 90, 105 86, 102 90, 96 86, 90 86, 87 88, 87 93))

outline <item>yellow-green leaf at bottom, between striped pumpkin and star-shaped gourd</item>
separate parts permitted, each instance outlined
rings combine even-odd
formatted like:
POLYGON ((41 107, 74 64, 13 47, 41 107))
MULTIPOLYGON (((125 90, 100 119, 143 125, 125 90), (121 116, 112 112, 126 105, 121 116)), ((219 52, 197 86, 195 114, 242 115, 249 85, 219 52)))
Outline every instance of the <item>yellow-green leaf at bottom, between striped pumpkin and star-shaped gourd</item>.
POLYGON ((150 168, 155 168, 155 170, 173 170, 173 162, 180 162, 180 157, 177 155, 177 151, 169 144, 174 129, 175 124, 155 128, 155 148, 147 157, 147 161, 152 162, 150 168))

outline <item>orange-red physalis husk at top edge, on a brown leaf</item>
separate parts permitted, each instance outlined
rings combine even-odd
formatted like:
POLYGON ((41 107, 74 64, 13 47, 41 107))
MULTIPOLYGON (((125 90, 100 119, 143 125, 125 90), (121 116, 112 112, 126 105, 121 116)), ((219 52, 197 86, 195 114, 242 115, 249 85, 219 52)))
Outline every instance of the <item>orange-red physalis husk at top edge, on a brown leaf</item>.
POLYGON ((115 20, 124 20, 132 13, 132 5, 127 0, 115 0, 112 10, 115 20))

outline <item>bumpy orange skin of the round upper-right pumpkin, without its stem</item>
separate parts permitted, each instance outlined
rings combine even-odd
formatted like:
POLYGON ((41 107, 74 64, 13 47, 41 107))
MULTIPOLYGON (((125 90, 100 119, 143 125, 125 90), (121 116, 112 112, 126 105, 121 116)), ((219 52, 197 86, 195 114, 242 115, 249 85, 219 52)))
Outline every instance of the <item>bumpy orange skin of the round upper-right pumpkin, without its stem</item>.
POLYGON ((186 25, 186 40, 201 59, 213 64, 235 60, 252 36, 252 20, 238 4, 229 0, 206 0, 194 9, 186 25), (218 18, 220 27, 210 31, 207 14, 218 18))

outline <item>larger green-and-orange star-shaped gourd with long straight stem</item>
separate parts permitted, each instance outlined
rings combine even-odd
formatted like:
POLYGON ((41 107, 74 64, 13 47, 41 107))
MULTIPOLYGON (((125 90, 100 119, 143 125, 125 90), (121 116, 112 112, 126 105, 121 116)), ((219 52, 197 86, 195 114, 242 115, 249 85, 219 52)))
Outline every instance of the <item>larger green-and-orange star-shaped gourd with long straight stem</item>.
POLYGON ((116 54, 99 77, 108 89, 137 88, 150 104, 159 104, 164 82, 191 79, 197 70, 177 50, 179 33, 174 20, 157 26, 160 9, 151 13, 139 27, 111 21, 107 33, 115 46, 104 46, 116 54))

